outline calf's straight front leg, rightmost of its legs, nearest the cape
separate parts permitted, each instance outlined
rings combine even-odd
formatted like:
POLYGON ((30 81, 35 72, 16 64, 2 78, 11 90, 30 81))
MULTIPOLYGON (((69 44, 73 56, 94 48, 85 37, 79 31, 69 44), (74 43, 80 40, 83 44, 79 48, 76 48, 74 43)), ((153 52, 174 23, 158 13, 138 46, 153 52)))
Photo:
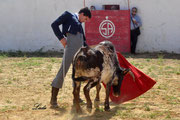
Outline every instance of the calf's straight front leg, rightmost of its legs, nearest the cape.
POLYGON ((111 84, 108 83, 106 85, 106 98, 105 98, 105 103, 104 103, 104 110, 105 111, 108 111, 110 109, 110 107, 109 107, 109 93, 110 93, 110 90, 111 90, 111 84))

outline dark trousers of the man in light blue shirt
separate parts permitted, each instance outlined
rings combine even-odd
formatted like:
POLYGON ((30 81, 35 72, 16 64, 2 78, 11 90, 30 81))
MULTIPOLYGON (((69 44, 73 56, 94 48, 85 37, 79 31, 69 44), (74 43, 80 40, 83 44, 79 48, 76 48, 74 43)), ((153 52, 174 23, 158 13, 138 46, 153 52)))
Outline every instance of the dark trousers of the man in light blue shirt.
POLYGON ((138 40, 138 35, 135 33, 135 31, 131 30, 131 53, 136 53, 136 44, 138 40))

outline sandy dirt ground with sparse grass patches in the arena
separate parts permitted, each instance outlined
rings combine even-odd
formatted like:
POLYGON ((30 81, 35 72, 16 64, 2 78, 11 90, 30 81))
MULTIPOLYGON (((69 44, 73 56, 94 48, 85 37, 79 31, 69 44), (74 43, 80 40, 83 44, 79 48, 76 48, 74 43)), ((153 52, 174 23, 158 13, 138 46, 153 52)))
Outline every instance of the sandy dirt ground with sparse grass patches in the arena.
MULTIPOLYGON (((61 57, 0 55, 0 120, 180 120, 180 55, 124 55, 139 70, 157 83, 145 94, 123 104, 110 103, 111 111, 103 110, 104 88, 100 108, 92 111, 81 104, 83 113, 73 107, 71 69, 58 95, 60 108, 51 109, 51 82, 61 57), (41 109, 36 109, 36 108, 41 109)), ((85 84, 82 84, 82 87, 85 84)), ((91 98, 95 98, 95 89, 91 98)), ((85 101, 82 89, 81 98, 85 101)))

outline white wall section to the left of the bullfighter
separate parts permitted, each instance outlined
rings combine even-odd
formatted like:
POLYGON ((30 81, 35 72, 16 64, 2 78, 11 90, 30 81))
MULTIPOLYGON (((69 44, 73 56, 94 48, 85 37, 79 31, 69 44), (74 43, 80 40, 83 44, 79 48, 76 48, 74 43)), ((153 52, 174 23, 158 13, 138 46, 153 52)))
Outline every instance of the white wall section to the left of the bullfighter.
POLYGON ((83 0, 0 0, 0 50, 60 51, 51 23, 82 7, 83 0))

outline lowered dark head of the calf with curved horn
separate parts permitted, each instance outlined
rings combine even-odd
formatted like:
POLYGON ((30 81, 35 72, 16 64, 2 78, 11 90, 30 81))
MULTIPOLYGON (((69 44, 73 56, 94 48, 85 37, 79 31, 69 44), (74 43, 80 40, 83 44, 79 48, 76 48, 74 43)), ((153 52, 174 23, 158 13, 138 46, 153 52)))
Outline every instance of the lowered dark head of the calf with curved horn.
POLYGON ((120 96, 120 88, 121 88, 121 84, 123 81, 124 76, 129 73, 134 80, 134 74, 131 72, 130 69, 120 69, 118 68, 115 72, 115 76, 112 82, 112 87, 113 87, 113 96, 118 97, 120 96))

